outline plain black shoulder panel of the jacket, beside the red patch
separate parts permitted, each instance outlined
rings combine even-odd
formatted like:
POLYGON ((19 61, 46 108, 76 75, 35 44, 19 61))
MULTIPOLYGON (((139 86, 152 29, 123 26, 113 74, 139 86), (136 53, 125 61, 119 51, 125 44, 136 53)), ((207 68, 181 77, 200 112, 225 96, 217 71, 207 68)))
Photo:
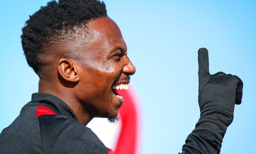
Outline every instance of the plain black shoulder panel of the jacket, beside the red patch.
POLYGON ((108 148, 88 127, 63 115, 41 115, 41 140, 45 153, 107 153, 108 148))

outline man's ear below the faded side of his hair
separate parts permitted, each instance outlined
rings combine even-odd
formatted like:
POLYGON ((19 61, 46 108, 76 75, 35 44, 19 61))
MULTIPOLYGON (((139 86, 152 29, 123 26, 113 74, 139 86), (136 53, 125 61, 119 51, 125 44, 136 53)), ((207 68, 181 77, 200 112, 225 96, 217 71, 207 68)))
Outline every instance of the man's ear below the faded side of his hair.
POLYGON ((76 63, 71 59, 62 58, 59 60, 58 73, 64 80, 69 82, 78 82, 80 80, 76 63))

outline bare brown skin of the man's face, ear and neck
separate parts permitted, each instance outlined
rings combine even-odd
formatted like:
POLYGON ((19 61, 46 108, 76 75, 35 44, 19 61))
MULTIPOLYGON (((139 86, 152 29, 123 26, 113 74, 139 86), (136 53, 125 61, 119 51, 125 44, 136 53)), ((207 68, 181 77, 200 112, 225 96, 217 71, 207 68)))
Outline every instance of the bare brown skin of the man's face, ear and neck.
POLYGON ((63 100, 83 125, 94 117, 117 116, 123 100, 112 87, 128 84, 127 76, 135 73, 120 29, 112 19, 96 18, 86 27, 89 38, 81 36, 84 31, 77 32, 54 48, 56 54, 46 67, 50 73, 41 75, 38 90, 63 100))

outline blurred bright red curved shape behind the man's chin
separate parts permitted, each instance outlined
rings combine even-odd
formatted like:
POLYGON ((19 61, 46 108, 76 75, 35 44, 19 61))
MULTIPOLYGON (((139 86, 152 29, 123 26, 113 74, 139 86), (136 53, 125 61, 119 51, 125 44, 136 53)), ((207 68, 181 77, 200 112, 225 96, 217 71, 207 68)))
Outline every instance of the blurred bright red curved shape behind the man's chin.
POLYGON ((118 94, 123 96, 124 102, 118 110, 122 125, 115 148, 116 154, 139 153, 139 101, 130 85, 129 90, 117 90, 118 94))

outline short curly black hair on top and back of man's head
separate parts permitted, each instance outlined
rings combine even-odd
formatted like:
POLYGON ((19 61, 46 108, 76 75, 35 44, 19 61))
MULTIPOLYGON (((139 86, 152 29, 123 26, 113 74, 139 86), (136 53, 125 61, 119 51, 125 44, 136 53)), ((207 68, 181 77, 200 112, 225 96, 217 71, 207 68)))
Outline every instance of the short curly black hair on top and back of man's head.
POLYGON ((43 44, 51 36, 59 36, 62 30, 69 30, 92 19, 107 16, 104 2, 98 0, 55 0, 32 14, 22 28, 21 44, 27 62, 36 74, 42 66, 38 54, 44 52, 43 44))

